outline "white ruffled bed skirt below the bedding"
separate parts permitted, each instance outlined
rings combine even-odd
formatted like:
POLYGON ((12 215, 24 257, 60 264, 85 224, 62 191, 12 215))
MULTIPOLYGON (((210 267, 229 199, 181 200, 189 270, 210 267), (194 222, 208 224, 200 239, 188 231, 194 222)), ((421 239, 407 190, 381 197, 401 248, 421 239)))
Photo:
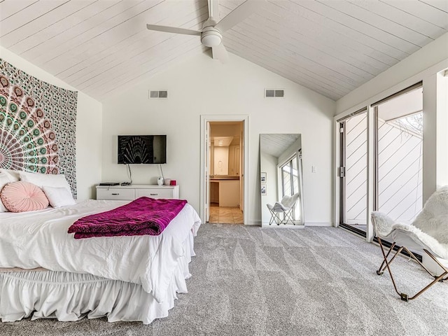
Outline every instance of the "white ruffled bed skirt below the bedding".
MULTIPOLYGON (((0 273, 0 318, 19 321, 31 316, 77 321, 107 316, 109 322, 142 321, 168 316, 176 293, 187 293, 188 263, 193 251, 193 234, 184 242, 186 254, 167 288, 165 300, 157 302, 141 285, 104 279, 92 274, 31 271, 0 273)), ((132 262, 132 260, 130 260, 132 262)))

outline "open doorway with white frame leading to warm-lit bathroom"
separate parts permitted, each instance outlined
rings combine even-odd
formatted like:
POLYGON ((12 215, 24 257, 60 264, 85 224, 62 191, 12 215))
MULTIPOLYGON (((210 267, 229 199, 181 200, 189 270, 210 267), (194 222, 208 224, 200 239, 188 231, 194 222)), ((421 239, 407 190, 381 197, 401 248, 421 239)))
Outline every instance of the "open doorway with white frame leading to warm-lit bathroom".
POLYGON ((247 116, 201 116, 203 222, 247 223, 247 116))

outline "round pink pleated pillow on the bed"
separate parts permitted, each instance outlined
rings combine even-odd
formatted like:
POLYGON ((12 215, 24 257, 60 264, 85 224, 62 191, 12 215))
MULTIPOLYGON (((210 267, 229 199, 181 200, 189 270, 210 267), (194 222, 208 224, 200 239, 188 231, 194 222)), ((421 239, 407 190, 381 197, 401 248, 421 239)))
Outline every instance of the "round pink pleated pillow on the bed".
POLYGON ((48 207, 45 193, 32 183, 8 183, 0 193, 1 202, 11 212, 36 211, 48 207))

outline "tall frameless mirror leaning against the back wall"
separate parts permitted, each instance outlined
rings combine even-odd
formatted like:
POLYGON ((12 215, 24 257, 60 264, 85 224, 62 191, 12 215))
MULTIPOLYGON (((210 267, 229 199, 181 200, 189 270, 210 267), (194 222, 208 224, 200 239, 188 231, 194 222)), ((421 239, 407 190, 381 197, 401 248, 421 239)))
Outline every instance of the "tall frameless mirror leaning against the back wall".
POLYGON ((304 225, 300 134, 260 134, 262 226, 304 225))

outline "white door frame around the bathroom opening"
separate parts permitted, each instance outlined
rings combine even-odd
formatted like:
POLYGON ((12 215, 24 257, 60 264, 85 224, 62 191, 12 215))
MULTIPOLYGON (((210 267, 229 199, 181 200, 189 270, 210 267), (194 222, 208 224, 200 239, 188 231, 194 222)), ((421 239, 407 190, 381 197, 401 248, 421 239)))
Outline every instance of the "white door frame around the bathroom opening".
POLYGON ((243 130, 244 130, 244 141, 243 141, 243 147, 240 148, 241 155, 243 156, 243 172, 241 172, 241 178, 243 179, 243 220, 244 225, 248 224, 248 120, 249 117, 246 115, 232 115, 232 114, 225 114, 225 115, 201 115, 201 144, 200 144, 200 153, 201 153, 201 160, 200 160, 200 218, 202 223, 206 223, 206 195, 205 195, 205 188, 206 188, 206 177, 205 174, 205 165, 206 160, 205 158, 205 147, 208 146, 207 144, 207 134, 205 134, 205 127, 207 123, 209 122, 220 122, 220 121, 239 121, 243 122, 243 130))

